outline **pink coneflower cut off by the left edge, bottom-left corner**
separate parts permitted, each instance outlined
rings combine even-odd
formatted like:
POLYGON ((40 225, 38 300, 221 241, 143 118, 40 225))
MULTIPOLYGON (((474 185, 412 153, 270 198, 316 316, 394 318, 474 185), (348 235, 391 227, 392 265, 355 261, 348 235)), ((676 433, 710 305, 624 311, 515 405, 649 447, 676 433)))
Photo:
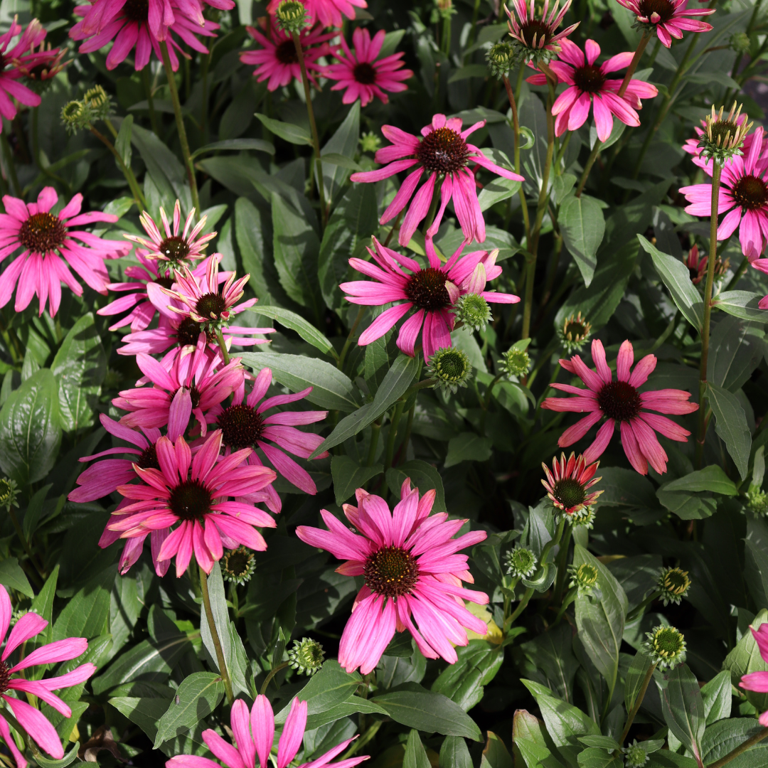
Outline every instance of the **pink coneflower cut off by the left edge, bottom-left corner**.
MULTIPOLYGON (((68 637, 66 640, 58 640, 35 648, 30 654, 14 664, 10 657, 22 644, 36 637, 48 626, 48 621, 35 613, 24 614, 14 625, 8 634, 11 624, 13 609, 8 591, 0 584, 0 644, 5 641, 5 648, 0 654, 0 698, 12 713, 16 722, 28 733, 29 737, 54 760, 64 757, 64 749, 56 729, 48 721, 39 709, 32 707, 25 699, 27 696, 38 697, 45 701, 49 707, 55 709, 64 717, 72 717, 72 710, 68 704, 62 701, 55 690, 71 688, 88 680, 96 671, 95 664, 81 664, 67 674, 58 677, 46 677, 35 680, 36 672, 21 673, 30 667, 46 664, 58 664, 60 661, 71 661, 82 656, 88 650, 88 641, 84 637, 68 637), (29 679, 28 679, 29 678, 29 679), (17 691, 23 698, 15 698, 8 695, 10 691, 17 691), (25 695, 26 694, 26 695, 25 695)), ((15 741, 11 736, 8 721, 0 714, 0 737, 11 750, 18 768, 26 766, 26 760, 16 749, 15 741)))

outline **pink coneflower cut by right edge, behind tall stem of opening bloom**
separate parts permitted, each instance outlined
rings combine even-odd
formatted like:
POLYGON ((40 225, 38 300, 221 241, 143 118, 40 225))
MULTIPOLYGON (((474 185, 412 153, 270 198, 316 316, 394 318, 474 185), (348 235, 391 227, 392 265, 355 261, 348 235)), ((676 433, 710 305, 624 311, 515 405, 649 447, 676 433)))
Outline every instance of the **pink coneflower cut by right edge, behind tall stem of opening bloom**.
MULTIPOLYGON (((768 242, 768 146, 763 147, 763 128, 758 128, 743 156, 727 162, 720 176, 717 213, 728 214, 717 227, 717 240, 726 240, 739 227, 741 252, 750 261, 758 259, 768 242)), ((712 175, 712 163, 703 166, 712 175)), ((690 205, 686 213, 710 217, 712 184, 680 187, 690 205)))

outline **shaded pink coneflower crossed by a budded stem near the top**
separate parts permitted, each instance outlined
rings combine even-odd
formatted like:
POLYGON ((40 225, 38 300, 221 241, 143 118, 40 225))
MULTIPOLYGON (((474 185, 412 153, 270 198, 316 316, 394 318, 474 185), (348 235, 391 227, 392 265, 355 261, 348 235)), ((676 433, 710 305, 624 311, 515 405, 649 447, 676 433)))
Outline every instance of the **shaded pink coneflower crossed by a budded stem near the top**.
MULTIPOLYGON (((266 32, 266 19, 261 21, 261 25, 266 32)), ((269 37, 255 27, 246 27, 246 29, 261 48, 243 51, 240 54, 240 61, 243 64, 256 65, 253 77, 257 81, 260 83, 269 81, 266 88, 276 91, 277 88, 282 88, 293 80, 301 80, 301 67, 299 58, 296 56, 296 46, 293 45, 293 38, 286 31, 280 29, 274 20, 269 26, 269 37)), ((306 76, 310 78, 315 88, 319 88, 315 74, 323 71, 323 67, 317 63, 317 60, 321 56, 330 54, 331 48, 328 41, 335 38, 336 34, 335 31, 323 32, 323 27, 317 25, 314 28, 303 29, 299 35, 306 76)))

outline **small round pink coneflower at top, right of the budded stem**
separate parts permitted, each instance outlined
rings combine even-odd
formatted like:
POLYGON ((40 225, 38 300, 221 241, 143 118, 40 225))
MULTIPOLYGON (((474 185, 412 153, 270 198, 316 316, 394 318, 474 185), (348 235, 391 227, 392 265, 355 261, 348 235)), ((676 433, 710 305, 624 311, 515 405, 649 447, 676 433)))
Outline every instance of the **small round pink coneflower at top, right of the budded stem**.
POLYGON ((379 29, 371 40, 371 33, 362 27, 356 28, 352 35, 355 52, 349 50, 346 40, 341 38, 341 47, 346 58, 336 53, 336 64, 326 67, 325 74, 329 80, 339 82, 331 88, 331 91, 345 91, 342 99, 344 104, 353 104, 360 100, 360 106, 365 107, 378 96, 385 104, 389 102, 389 96, 384 91, 399 93, 407 91, 408 87, 403 83, 413 77, 410 69, 401 69, 404 53, 396 53, 376 61, 379 51, 384 44, 386 32, 379 29))

